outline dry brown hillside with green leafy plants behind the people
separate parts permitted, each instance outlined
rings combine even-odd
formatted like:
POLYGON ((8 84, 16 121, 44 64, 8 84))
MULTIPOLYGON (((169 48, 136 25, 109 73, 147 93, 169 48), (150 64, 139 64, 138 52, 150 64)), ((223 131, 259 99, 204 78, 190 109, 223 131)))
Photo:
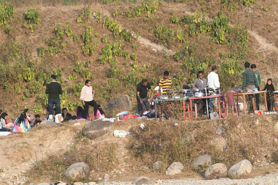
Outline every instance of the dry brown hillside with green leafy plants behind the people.
MULTIPOLYGON (((11 117, 25 107, 45 112, 51 73, 70 112, 87 78, 102 106, 134 97, 142 77, 156 83, 165 70, 181 88, 217 65, 228 89, 241 84, 243 61, 277 87, 277 1, 9 2, 14 13, 0 27, 0 107, 11 117)), ((136 99, 133 105, 136 111, 136 99)))

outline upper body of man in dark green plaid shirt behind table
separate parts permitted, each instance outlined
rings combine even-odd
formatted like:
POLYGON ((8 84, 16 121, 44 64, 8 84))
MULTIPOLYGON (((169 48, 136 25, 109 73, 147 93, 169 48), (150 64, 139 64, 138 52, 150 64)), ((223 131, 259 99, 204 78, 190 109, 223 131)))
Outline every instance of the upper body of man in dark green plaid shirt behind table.
POLYGON ((255 72, 250 69, 250 63, 244 63, 245 71, 242 74, 242 90, 254 89, 258 87, 255 72))

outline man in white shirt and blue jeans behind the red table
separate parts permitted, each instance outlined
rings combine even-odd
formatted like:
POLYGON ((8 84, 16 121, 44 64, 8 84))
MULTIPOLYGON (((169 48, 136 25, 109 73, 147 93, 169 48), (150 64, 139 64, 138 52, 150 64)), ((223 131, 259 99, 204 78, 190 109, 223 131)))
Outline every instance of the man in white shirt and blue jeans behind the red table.
MULTIPOLYGON (((221 94, 220 91, 220 82, 219 82, 219 77, 218 77, 218 69, 217 67, 214 65, 211 68, 211 72, 208 74, 208 88, 219 88, 218 91, 216 92, 216 94, 221 94)), ((222 101, 222 98, 220 98, 220 100, 222 101)), ((222 103, 221 103, 222 105, 222 103)), ((209 98, 209 110, 211 112, 213 107, 213 98, 209 98)))

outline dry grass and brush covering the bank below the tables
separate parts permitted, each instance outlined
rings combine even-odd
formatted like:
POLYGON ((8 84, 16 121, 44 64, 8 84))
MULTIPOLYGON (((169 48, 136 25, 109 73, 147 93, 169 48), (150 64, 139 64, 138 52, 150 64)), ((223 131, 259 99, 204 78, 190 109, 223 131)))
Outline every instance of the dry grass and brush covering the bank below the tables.
MULTIPOLYGON (((257 159, 269 160, 269 155, 276 151, 277 133, 273 125, 277 116, 243 117, 217 121, 182 122, 177 120, 162 123, 150 122, 145 124, 144 130, 134 129, 134 138, 129 147, 136 156, 142 158, 149 167, 152 163, 161 160, 164 164, 162 173, 172 162, 182 162, 189 170, 190 162, 201 154, 210 154, 214 163, 224 163, 227 167, 248 159, 255 162, 257 159), (257 119, 260 124, 256 125, 257 119), (174 123, 179 126, 175 127, 174 123), (216 134, 221 128, 221 136, 216 134), (227 143, 226 150, 219 151, 211 143, 214 138, 223 137, 227 143), (265 157, 266 156, 266 157, 265 157)), ((272 160, 272 159, 270 159, 272 160)))

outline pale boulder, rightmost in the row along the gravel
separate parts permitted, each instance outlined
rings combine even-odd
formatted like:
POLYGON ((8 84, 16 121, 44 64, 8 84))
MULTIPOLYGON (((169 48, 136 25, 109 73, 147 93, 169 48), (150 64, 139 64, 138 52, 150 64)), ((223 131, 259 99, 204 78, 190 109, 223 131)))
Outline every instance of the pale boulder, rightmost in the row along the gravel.
POLYGON ((243 175, 250 174, 252 171, 252 164, 247 159, 244 159, 232 167, 230 167, 228 175, 232 179, 241 178, 243 175))

